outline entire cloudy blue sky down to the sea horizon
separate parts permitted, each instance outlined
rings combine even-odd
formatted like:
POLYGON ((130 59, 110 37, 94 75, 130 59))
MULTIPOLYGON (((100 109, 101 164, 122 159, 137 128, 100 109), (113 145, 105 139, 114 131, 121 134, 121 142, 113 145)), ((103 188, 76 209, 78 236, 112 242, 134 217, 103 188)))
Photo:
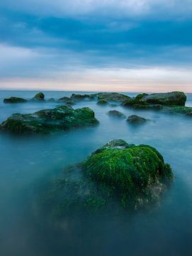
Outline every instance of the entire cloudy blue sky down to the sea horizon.
POLYGON ((192 92, 192 0, 1 0, 0 89, 192 92))

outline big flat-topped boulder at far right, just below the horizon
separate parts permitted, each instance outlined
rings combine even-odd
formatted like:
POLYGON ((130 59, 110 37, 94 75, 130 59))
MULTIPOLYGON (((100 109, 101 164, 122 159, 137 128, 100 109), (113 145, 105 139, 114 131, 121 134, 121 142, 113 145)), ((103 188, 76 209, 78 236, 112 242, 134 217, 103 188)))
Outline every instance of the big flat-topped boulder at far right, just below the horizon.
POLYGON ((186 95, 184 92, 152 93, 151 95, 145 95, 140 100, 152 104, 184 106, 186 103, 186 95))

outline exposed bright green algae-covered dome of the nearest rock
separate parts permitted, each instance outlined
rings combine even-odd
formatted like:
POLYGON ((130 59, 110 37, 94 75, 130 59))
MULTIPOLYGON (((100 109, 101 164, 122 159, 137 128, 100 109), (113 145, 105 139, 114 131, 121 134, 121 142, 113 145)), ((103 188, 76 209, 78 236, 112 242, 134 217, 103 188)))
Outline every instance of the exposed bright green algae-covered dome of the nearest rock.
POLYGON ((169 164, 152 146, 112 141, 83 164, 84 172, 123 206, 153 201, 173 177, 169 164))

